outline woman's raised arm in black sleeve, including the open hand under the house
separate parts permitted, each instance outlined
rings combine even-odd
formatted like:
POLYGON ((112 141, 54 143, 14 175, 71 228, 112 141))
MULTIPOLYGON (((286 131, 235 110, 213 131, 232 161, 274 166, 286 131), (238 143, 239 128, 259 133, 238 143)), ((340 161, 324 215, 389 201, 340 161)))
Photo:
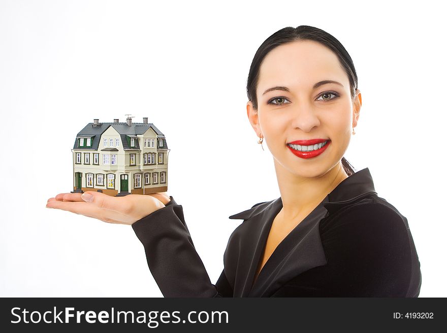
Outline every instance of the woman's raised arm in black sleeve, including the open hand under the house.
POLYGON ((225 273, 216 285, 211 284, 186 227, 182 206, 170 198, 164 193, 112 197, 87 191, 58 194, 48 199, 46 207, 132 225, 165 297, 233 297, 225 273))

